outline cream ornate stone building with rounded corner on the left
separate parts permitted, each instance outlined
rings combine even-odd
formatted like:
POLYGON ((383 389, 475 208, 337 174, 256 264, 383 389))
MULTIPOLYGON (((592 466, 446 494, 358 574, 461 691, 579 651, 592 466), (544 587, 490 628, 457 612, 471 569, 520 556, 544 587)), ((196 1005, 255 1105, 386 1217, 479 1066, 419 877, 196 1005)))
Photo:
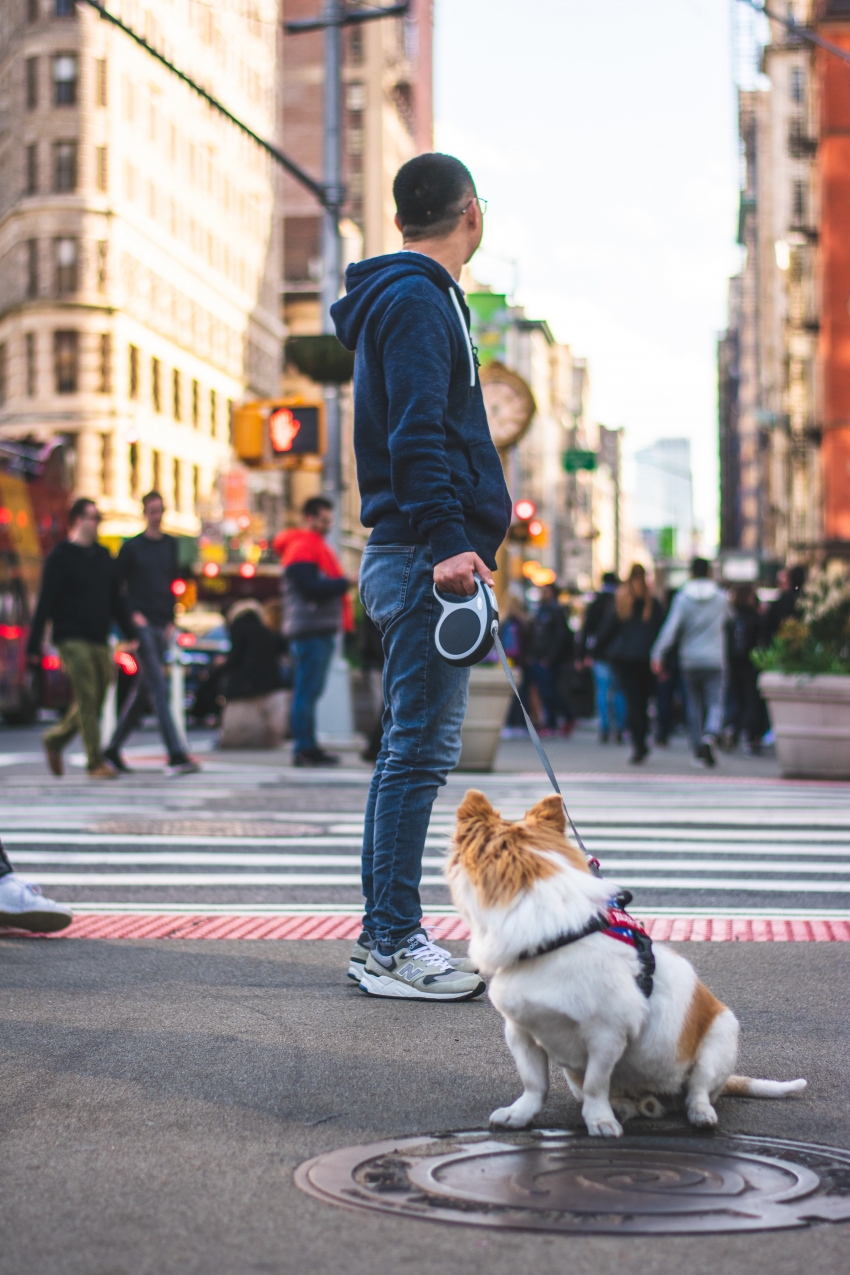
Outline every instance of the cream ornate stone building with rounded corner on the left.
MULTIPOLYGON (((278 0, 110 8, 275 140, 278 0)), ((279 172, 73 0, 0 6, 0 435, 71 440, 106 536, 153 486, 196 534, 231 404, 279 389, 279 172)))

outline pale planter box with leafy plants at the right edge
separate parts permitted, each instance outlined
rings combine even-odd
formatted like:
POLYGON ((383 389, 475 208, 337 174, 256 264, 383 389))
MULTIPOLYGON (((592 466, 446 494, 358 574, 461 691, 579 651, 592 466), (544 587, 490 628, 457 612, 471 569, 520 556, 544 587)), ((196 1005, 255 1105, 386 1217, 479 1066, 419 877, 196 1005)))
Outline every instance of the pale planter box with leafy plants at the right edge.
POLYGON ((788 779, 850 779, 850 676, 761 673, 788 779))

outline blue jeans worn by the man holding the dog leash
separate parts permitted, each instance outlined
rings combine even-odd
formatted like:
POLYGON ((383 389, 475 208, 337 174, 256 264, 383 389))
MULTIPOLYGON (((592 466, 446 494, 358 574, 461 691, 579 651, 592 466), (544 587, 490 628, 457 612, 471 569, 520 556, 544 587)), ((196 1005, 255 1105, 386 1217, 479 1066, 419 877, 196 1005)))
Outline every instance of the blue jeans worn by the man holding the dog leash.
POLYGON ((429 548, 367 544, 359 583, 385 657, 384 736, 363 829, 363 928, 389 954, 422 923, 422 853, 437 789, 460 760, 469 669, 437 654, 429 548))

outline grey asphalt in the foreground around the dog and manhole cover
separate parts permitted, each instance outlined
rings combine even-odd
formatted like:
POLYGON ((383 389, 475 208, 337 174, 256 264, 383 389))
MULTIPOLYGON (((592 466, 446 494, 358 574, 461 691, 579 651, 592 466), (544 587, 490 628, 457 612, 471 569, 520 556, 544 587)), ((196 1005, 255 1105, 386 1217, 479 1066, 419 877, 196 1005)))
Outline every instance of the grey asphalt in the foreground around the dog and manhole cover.
MULTIPOLYGON (((682 945, 743 1024, 721 1131, 850 1142, 850 945, 682 945)), ((382 1136, 478 1127, 517 1093, 500 1020, 370 1001, 340 942, 0 938, 3 1275, 376 1270, 716 1275, 846 1269, 850 1225, 626 1239, 349 1214, 293 1169, 382 1136)), ((543 1126, 577 1126, 556 1077, 543 1126)))

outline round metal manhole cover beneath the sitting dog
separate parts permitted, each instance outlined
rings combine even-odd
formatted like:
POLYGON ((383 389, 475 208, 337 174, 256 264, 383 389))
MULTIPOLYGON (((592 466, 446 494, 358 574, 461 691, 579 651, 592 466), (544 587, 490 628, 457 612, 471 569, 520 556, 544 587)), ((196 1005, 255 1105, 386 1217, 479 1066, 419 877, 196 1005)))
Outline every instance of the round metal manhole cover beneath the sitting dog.
POLYGON ((296 1183, 353 1209, 570 1234, 780 1230, 850 1219, 850 1151, 740 1135, 408 1137, 307 1160, 296 1183))

